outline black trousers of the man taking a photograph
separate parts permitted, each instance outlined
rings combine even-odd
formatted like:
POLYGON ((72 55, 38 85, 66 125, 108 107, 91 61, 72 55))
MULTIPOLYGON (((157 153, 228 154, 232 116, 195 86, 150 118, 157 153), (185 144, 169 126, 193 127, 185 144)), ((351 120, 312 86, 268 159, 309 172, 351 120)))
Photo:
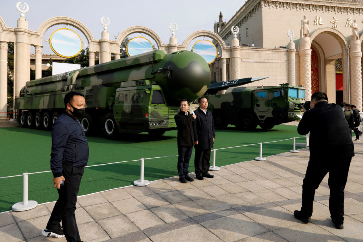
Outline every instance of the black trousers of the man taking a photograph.
POLYGON ((310 161, 302 184, 302 213, 308 217, 313 214, 315 190, 329 172, 330 217, 334 223, 343 223, 344 188, 347 183, 351 160, 351 156, 339 153, 324 158, 310 156, 310 161))

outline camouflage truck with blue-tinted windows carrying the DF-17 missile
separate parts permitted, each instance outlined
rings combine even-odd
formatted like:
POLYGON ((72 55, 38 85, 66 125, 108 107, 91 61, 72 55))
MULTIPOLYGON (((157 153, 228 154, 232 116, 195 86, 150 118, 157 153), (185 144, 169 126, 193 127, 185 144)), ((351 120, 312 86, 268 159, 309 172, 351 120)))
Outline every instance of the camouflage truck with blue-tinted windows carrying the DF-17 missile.
MULTIPOLYGON (((257 125, 262 129, 271 129, 275 125, 300 119, 296 116, 301 113, 298 104, 305 102, 305 89, 301 86, 229 87, 234 86, 236 81, 243 85, 264 78, 232 80, 224 83, 225 94, 206 93, 208 109, 213 114, 216 128, 233 124, 248 131, 256 129, 257 125)), ((211 84, 209 90, 218 83, 211 84)), ((215 90, 222 90, 222 86, 215 90)))

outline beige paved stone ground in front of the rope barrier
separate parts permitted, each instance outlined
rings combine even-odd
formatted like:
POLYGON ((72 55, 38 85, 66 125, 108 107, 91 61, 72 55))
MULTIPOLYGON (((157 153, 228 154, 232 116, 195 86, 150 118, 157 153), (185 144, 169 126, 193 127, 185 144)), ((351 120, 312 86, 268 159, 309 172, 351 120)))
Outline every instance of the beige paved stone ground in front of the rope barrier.
MULTIPOLYGON (((355 142, 345 192, 344 229, 329 214, 328 176, 317 189, 312 223, 293 217, 301 206, 308 148, 247 161, 187 184, 177 177, 78 198, 84 241, 363 241, 363 142, 355 142)), ((194 174, 191 174, 194 177, 194 174)), ((59 241, 41 235, 54 202, 0 214, 0 241, 59 241)))

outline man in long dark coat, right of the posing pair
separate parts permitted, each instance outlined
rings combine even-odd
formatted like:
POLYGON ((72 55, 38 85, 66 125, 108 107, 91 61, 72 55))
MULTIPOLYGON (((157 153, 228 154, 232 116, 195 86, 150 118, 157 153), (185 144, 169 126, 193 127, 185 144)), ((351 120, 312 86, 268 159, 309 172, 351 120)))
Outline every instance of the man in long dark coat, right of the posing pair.
POLYGON ((198 105, 199 108, 194 111, 197 116, 197 139, 195 140, 194 167, 197 179, 203 180, 203 177, 214 177, 209 174, 208 171, 210 166, 209 160, 211 157, 211 148, 213 147, 216 132, 214 130, 212 113, 207 109, 207 98, 200 97, 198 99, 198 105))

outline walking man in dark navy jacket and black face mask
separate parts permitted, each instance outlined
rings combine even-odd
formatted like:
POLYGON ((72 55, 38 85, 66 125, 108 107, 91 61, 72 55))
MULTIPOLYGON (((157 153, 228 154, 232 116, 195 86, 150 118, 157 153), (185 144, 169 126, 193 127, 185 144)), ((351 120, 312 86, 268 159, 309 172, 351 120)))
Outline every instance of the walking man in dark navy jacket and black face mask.
POLYGON ((74 212, 89 152, 86 135, 77 119, 84 115, 85 105, 82 93, 67 93, 64 97, 65 112, 54 122, 52 128, 50 169, 59 198, 42 234, 56 238, 66 236, 68 242, 81 241, 74 212))

